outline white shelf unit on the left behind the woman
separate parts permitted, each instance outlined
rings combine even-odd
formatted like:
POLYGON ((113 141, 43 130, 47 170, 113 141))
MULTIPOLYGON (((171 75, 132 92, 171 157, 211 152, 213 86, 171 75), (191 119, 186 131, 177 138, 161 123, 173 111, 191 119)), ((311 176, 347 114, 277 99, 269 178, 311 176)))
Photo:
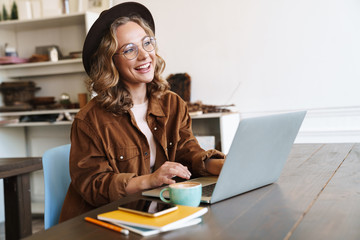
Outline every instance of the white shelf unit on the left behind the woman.
MULTIPOLYGON (((0 56, 4 55, 5 43, 14 47, 20 58, 30 58, 35 54, 36 47, 41 46, 56 45, 63 56, 70 55, 70 52, 81 51, 86 33, 98 15, 99 13, 85 12, 0 22, 0 56)), ((37 97, 54 96, 55 100, 59 100, 62 93, 68 93, 70 100, 77 102, 78 93, 87 92, 85 78, 81 58, 57 62, 0 65, 0 83, 33 81, 41 88, 35 93, 37 97)), ((3 105, 3 99, 0 94, 1 105, 3 105)), ((75 114, 77 111, 78 109, 1 112, 0 122, 23 115, 64 112, 75 114)), ((42 156, 46 149, 69 143, 70 128, 71 121, 1 124, 0 157, 42 156)), ((43 202, 42 172, 34 173, 31 181, 32 199, 35 199, 36 203, 43 202)), ((0 210, 3 211, 1 206, 0 210)), ((35 210, 35 212, 39 211, 35 210)))

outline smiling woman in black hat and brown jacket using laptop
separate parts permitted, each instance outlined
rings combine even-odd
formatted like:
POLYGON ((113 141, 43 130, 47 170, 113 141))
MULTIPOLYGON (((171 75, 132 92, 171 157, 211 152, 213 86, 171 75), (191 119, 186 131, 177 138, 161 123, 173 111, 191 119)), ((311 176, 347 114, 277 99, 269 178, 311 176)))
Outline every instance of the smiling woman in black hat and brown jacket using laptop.
POLYGON ((224 154, 204 151, 192 134, 186 103, 160 76, 151 13, 122 3, 104 11, 83 49, 97 94, 71 130, 71 184, 60 221, 173 177, 218 175, 224 154))

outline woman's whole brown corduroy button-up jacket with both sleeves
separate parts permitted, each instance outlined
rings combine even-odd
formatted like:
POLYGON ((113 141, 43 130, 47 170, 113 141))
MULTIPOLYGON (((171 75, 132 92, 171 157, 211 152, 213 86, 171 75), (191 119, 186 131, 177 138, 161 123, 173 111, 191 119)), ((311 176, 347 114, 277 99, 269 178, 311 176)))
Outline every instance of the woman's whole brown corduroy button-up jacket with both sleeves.
MULTIPOLYGON (((147 123, 156 142, 154 171, 165 161, 187 166, 192 177, 208 175, 204 161, 224 159, 200 148, 186 103, 175 93, 149 99, 147 123)), ((71 130, 71 183, 60 222, 126 196, 128 181, 151 173, 150 148, 131 111, 115 116, 92 99, 76 115, 71 130)))

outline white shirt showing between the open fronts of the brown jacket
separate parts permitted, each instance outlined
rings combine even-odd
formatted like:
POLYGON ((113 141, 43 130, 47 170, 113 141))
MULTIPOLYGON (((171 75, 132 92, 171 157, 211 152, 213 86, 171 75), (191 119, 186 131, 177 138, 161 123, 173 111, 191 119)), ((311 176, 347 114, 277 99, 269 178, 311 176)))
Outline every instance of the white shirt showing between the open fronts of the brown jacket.
POLYGON ((140 128, 141 132, 145 135, 146 139, 148 140, 150 146, 150 168, 154 167, 155 158, 156 158, 156 144, 154 135, 152 134, 149 125, 146 122, 146 112, 148 108, 149 102, 146 101, 142 104, 134 104, 131 108, 131 111, 134 114, 136 124, 140 128))

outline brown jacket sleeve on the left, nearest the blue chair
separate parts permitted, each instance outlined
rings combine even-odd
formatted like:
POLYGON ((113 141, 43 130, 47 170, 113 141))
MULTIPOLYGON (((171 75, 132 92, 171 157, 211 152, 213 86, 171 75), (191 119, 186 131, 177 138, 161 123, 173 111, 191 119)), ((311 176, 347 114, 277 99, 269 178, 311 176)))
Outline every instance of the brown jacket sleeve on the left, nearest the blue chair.
POLYGON ((71 129, 70 176, 75 190, 92 206, 101 206, 126 195, 135 173, 119 173, 96 131, 75 119, 71 129))

